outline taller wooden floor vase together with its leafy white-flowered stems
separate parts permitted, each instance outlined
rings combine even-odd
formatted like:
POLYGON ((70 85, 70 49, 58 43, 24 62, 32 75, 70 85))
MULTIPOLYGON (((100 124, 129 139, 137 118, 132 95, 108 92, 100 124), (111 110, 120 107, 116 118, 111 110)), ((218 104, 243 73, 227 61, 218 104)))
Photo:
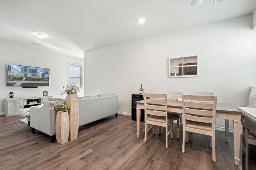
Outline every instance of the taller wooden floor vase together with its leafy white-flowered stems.
MULTIPOLYGON (((64 87, 63 87, 64 88, 64 87)), ((79 104, 78 96, 79 88, 76 86, 66 86, 66 90, 62 91, 61 94, 67 94, 66 105, 71 107, 68 109, 70 134, 68 140, 72 141, 77 138, 78 127, 79 127, 79 104)))

